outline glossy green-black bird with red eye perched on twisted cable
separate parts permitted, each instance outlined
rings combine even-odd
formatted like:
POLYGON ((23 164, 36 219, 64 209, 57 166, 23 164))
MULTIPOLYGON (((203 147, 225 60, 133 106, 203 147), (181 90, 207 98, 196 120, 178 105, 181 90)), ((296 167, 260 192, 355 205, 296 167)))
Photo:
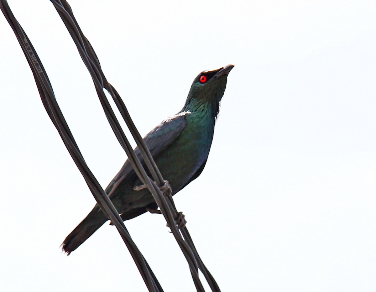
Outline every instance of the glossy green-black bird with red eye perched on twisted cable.
MULTIPOLYGON (((227 76, 233 67, 230 64, 202 71, 193 80, 182 110, 162 121, 144 137, 159 171, 171 186, 172 195, 197 179, 206 165, 227 76)), ((135 153, 145 165, 137 147, 135 153)), ((105 192, 123 221, 158 210, 152 194, 143 187, 128 159, 105 192)), ((69 255, 106 221, 108 218, 96 204, 65 238, 62 250, 69 255)))

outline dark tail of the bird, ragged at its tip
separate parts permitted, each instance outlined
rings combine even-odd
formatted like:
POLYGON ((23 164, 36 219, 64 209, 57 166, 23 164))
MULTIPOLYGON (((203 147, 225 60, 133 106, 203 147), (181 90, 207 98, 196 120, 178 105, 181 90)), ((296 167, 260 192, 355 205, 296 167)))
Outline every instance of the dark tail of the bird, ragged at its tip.
POLYGON ((65 238, 62 246, 63 250, 69 255, 88 239, 99 227, 101 227, 108 218, 100 210, 99 206, 94 207, 91 212, 82 220, 80 224, 65 238))

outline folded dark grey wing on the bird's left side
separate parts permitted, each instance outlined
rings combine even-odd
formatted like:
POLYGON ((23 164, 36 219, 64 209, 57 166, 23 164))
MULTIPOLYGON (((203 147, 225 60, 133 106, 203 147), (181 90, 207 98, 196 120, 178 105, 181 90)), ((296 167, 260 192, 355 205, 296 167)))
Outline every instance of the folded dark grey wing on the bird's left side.
MULTIPOLYGON (((186 125, 185 115, 189 114, 190 112, 181 112, 170 116, 144 137, 146 146, 149 148, 153 157, 157 156, 167 148, 168 145, 175 141, 186 125)), ((144 159, 138 147, 135 148, 135 153, 143 166, 145 166, 144 159)), ((118 174, 107 186, 106 193, 112 195, 115 189, 134 176, 135 172, 133 171, 129 159, 127 159, 118 174)))

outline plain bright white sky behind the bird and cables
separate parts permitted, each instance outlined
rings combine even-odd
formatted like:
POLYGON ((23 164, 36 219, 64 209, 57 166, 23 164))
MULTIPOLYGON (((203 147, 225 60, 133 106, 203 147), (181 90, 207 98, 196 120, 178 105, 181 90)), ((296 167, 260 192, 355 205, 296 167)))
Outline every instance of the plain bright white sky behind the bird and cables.
MULTIPOLYGON (((142 135, 235 65, 206 168, 174 197, 223 291, 375 291, 376 2, 69 3, 142 135)), ((126 157, 64 24, 49 1, 9 5, 106 187, 126 157)), ((146 291, 114 227, 61 253, 94 198, 4 17, 0 39, 1 289, 146 291)), ((165 291, 195 290, 162 216, 126 226, 165 291)))

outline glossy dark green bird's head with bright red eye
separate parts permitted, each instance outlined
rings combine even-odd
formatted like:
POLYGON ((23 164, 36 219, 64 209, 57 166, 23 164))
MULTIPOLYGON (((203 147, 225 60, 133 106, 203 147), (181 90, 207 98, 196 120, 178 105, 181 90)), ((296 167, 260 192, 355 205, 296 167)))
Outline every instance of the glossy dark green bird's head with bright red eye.
POLYGON ((212 71, 202 71, 193 80, 183 110, 211 111, 217 118, 220 101, 226 89, 227 75, 234 65, 227 65, 212 71))

